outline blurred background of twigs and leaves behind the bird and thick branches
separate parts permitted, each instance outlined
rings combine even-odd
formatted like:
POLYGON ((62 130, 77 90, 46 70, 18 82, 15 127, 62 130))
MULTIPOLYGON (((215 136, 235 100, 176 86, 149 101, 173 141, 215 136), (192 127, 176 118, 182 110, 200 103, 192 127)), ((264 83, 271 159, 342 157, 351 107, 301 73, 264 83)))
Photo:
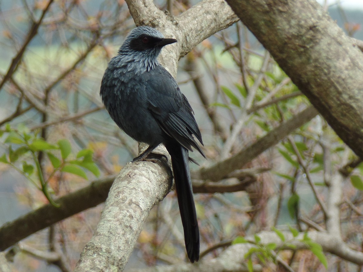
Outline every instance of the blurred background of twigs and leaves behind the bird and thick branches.
MULTIPOLYGON (((155 1, 172 15, 195 2, 155 1)), ((348 34, 363 38, 362 11, 339 6, 329 11, 348 34)), ((137 155, 137 143, 117 128, 99 98, 107 62, 134 27, 123 0, 0 1, 0 224, 89 180, 117 174, 137 155)), ((208 160, 191 154, 201 166, 237 153, 309 105, 240 23, 181 59, 177 80, 203 135, 208 160)), ((324 213, 313 190, 326 200, 327 169, 346 171, 346 177, 353 173, 344 184, 340 219, 344 240, 362 250, 363 166, 350 164, 354 159, 317 116, 245 165, 249 185, 244 190, 196 194, 201 252, 215 257, 232 241, 245 242, 236 237, 272 227, 293 233, 323 229, 324 213)), ((17 271, 70 271, 101 210, 99 205, 23 240, 13 256, 17 271), (55 247, 68 266, 34 254, 55 247)), ((171 192, 152 211, 127 268, 184 260, 183 243, 171 192)), ((273 245, 260 253, 269 250, 273 245)), ((264 271, 276 271, 276 258, 262 253, 264 271)), ((352 267, 333 255, 325 259, 319 249, 287 250, 280 256, 294 269, 303 262, 304 271, 352 267)))

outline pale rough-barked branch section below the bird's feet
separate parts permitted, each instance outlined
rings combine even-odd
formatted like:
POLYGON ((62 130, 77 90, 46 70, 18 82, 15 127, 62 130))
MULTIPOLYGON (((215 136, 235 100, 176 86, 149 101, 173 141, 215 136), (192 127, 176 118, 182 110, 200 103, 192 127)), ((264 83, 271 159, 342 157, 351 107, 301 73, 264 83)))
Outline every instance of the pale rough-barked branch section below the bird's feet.
POLYGON ((74 271, 122 271, 150 210, 171 185, 166 164, 127 164, 110 189, 101 220, 74 271))

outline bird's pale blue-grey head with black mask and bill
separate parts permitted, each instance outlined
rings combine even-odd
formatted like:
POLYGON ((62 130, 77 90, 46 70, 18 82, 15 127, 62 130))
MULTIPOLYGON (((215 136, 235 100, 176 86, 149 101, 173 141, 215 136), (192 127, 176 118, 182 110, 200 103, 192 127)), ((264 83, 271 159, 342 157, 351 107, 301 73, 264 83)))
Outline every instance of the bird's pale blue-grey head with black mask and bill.
POLYGON ((119 49, 119 54, 133 55, 135 58, 155 60, 163 46, 177 40, 164 38, 163 34, 150 26, 139 26, 131 30, 119 49))

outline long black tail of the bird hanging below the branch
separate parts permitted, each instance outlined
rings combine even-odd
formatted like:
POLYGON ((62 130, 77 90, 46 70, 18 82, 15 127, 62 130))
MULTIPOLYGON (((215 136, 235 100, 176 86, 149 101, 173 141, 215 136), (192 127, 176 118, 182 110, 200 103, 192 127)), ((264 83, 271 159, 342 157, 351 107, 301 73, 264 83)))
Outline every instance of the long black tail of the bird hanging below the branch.
POLYGON ((189 260, 194 263, 199 260, 199 228, 189 171, 189 152, 177 142, 165 146, 171 156, 176 195, 184 228, 185 248, 189 260))

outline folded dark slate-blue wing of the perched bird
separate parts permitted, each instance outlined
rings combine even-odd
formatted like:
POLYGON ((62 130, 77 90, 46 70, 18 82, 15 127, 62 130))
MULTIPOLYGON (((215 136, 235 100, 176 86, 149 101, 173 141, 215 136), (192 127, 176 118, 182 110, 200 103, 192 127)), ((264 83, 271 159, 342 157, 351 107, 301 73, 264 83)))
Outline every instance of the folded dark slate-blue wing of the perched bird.
POLYGON ((149 110, 160 127, 185 148, 196 148, 204 153, 192 135, 203 145, 193 110, 187 98, 180 92, 172 75, 162 66, 149 71, 147 77, 149 110))

